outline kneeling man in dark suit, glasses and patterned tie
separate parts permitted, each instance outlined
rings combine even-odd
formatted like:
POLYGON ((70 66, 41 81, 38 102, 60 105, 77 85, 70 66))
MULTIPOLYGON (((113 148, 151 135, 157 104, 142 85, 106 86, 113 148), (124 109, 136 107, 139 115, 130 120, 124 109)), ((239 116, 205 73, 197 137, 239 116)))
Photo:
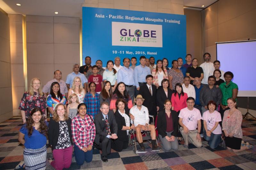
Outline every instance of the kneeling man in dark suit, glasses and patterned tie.
POLYGON ((108 162, 107 155, 111 153, 111 140, 117 139, 117 123, 114 113, 109 111, 108 102, 104 101, 100 104, 100 112, 94 116, 94 123, 96 128, 95 147, 102 150, 102 161, 108 162))

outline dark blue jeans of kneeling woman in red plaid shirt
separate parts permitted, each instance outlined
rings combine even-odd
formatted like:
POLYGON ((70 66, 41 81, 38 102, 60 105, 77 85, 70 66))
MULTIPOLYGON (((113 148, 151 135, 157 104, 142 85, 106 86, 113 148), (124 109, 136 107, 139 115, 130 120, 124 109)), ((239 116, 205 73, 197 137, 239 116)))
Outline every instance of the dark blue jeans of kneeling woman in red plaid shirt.
POLYGON ((87 151, 84 152, 81 149, 78 148, 78 146, 76 146, 76 144, 74 144, 74 148, 75 148, 75 159, 76 159, 76 163, 78 165, 83 165, 84 161, 85 162, 92 162, 92 150, 91 151, 87 151))

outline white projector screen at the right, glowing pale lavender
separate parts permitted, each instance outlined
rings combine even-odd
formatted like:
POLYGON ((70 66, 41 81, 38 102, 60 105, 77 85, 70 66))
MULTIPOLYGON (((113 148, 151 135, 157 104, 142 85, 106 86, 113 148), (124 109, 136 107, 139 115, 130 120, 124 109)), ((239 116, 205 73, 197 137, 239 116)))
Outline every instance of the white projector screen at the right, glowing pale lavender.
POLYGON ((217 42, 220 70, 231 71, 238 85, 238 97, 256 97, 255 61, 256 40, 217 42))

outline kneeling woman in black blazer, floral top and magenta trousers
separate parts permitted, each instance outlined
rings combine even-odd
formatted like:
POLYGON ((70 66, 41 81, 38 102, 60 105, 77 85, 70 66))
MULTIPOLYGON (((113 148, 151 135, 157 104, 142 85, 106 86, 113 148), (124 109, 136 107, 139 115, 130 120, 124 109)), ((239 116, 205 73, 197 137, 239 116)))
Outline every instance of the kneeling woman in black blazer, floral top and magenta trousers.
POLYGON ((57 170, 69 168, 73 152, 71 119, 62 103, 55 107, 49 123, 48 139, 49 145, 52 145, 54 158, 54 160, 49 159, 51 166, 57 170))

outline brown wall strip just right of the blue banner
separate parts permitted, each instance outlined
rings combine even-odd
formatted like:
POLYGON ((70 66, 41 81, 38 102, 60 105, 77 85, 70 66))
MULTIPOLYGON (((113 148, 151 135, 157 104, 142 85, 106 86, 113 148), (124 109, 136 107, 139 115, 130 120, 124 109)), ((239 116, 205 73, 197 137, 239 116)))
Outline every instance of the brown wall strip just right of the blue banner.
MULTIPOLYGON (((202 63, 202 22, 201 11, 184 9, 187 18, 187 54, 202 63)), ((184 61, 185 63, 185 61, 184 61)))

